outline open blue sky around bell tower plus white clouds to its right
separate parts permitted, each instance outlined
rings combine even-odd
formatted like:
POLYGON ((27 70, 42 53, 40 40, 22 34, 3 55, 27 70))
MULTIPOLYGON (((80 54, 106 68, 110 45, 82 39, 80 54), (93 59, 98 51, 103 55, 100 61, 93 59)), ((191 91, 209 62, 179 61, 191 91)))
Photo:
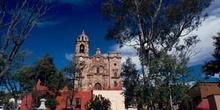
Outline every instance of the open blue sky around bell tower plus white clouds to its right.
MULTIPOLYGON (((119 48, 114 41, 104 39, 107 27, 110 25, 103 20, 98 9, 104 0, 49 1, 59 4, 52 10, 53 20, 39 23, 22 46, 23 49, 32 52, 30 61, 49 53, 58 68, 64 67, 75 52, 76 38, 84 29, 90 39, 90 56, 95 53, 96 48, 101 48, 103 54, 120 52, 123 57, 122 62, 129 56, 140 68, 134 49, 127 46, 119 48)), ((201 40, 195 48, 199 53, 193 56, 189 63, 196 68, 195 72, 198 72, 201 64, 212 58, 214 49, 212 36, 220 31, 220 0, 215 0, 205 11, 209 13, 209 18, 192 33, 197 34, 201 40)))

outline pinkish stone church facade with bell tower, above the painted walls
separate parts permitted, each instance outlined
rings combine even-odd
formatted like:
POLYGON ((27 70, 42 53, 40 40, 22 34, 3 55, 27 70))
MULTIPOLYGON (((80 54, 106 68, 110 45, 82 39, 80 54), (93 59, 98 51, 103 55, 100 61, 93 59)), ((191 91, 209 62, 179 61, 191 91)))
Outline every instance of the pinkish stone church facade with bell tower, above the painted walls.
POLYGON ((121 81, 121 54, 101 54, 100 48, 89 56, 89 38, 83 31, 76 40, 74 60, 76 62, 75 88, 106 90, 115 88, 121 81))

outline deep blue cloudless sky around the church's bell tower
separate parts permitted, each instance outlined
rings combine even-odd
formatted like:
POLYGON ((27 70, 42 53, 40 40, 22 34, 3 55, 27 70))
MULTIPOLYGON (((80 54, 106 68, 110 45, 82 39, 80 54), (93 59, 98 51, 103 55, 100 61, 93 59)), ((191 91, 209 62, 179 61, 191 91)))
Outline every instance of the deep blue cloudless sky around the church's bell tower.
POLYGON ((103 53, 111 51, 114 41, 104 40, 107 22, 99 12, 100 0, 66 0, 56 1, 59 5, 52 11, 54 17, 50 21, 38 23, 29 39, 23 45, 32 52, 31 61, 49 53, 56 66, 62 68, 67 58, 75 52, 76 38, 85 30, 90 38, 90 55, 96 48, 103 53))

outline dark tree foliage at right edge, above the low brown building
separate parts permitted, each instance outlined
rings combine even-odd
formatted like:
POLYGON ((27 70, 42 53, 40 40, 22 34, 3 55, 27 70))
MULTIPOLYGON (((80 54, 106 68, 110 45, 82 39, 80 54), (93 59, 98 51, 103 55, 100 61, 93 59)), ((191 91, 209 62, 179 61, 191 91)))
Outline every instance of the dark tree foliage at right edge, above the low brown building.
POLYGON ((220 32, 217 33, 217 36, 213 36, 213 39, 215 50, 212 56, 214 60, 210 60, 202 66, 202 72, 206 72, 206 77, 220 75, 220 32))

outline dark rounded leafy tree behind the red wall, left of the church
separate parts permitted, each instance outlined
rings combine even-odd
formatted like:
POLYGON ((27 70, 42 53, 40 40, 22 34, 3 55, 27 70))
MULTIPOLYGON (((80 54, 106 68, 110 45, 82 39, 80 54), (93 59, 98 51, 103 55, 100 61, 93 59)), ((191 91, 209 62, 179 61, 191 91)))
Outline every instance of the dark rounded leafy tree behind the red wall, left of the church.
POLYGON ((41 85, 48 87, 49 90, 58 93, 66 84, 66 77, 60 72, 53 63, 53 58, 49 54, 38 59, 34 66, 37 80, 41 80, 41 85))

